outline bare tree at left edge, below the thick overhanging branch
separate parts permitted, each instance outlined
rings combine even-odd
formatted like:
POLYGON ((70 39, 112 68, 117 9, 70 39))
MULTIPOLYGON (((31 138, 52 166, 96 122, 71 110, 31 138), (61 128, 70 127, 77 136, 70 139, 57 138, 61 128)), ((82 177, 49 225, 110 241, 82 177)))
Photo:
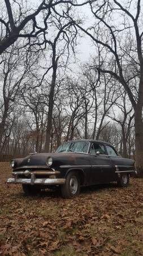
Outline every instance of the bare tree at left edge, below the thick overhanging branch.
POLYGON ((16 109, 16 99, 19 99, 20 89, 24 82, 28 80, 29 69, 32 67, 34 59, 29 59, 28 63, 24 64, 23 52, 15 46, 11 47, 10 53, 1 55, 1 106, 0 106, 0 148, 2 147, 2 139, 5 130, 8 127, 8 118, 16 109))

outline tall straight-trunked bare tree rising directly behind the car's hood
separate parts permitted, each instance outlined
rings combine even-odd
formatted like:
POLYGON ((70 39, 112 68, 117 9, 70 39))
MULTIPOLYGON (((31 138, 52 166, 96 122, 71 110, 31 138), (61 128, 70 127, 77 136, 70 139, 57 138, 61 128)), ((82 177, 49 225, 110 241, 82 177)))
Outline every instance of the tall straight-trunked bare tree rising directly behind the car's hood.
MULTIPOLYGON (((67 9, 67 13, 68 13, 67 9)), ((46 141, 45 148, 46 152, 50 150, 50 137, 51 137, 51 129, 52 129, 52 116, 53 116, 53 108, 54 108, 54 93, 55 86, 57 81, 57 72, 58 68, 66 67, 68 63, 68 59, 70 57, 70 49, 74 54, 74 46, 76 44, 76 35, 77 31, 75 30, 75 26, 73 26, 73 22, 67 22, 63 24, 63 20, 55 16, 56 20, 54 22, 55 28, 57 28, 57 34, 53 40, 48 40, 48 43, 51 47, 51 84, 50 84, 50 92, 49 92, 49 110, 47 113, 47 128, 46 128, 46 141), (62 46, 61 46, 62 43, 62 46), (65 59, 64 59, 65 57, 65 59), (60 59, 62 59, 62 63, 60 63, 60 59)))

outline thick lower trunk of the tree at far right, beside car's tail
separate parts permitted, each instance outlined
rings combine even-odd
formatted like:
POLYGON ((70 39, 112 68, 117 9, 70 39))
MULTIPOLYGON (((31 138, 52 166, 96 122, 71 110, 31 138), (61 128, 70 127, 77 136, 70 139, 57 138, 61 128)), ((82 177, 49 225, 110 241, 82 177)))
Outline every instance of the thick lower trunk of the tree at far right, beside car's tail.
POLYGON ((136 144, 136 171, 143 177, 143 122, 142 106, 137 104, 135 109, 135 144, 136 144))

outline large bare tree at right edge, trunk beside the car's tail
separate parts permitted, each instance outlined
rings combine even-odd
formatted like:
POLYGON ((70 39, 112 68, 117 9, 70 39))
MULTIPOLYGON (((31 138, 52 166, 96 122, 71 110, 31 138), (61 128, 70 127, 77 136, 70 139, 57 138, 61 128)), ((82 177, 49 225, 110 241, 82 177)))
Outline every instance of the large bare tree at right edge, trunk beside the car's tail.
POLYGON ((135 112, 136 169, 143 172, 143 56, 141 1, 88 1, 94 25, 81 31, 101 46, 99 72, 109 74, 124 87, 135 112), (116 15, 120 22, 116 21, 116 15), (92 33, 93 32, 93 33, 92 33), (137 84, 135 84, 135 79, 137 84), (137 86, 136 86, 137 85, 137 86))

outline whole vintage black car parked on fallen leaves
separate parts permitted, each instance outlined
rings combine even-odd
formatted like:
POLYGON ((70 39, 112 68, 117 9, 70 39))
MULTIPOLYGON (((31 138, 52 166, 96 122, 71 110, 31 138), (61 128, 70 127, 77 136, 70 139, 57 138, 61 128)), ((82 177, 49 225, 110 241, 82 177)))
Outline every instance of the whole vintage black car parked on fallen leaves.
POLYGON ((27 195, 59 186, 64 198, 77 196, 80 187, 117 181, 127 187, 135 173, 134 160, 122 158, 111 144, 102 141, 68 141, 55 153, 32 153, 11 161, 7 183, 20 183, 27 195))

